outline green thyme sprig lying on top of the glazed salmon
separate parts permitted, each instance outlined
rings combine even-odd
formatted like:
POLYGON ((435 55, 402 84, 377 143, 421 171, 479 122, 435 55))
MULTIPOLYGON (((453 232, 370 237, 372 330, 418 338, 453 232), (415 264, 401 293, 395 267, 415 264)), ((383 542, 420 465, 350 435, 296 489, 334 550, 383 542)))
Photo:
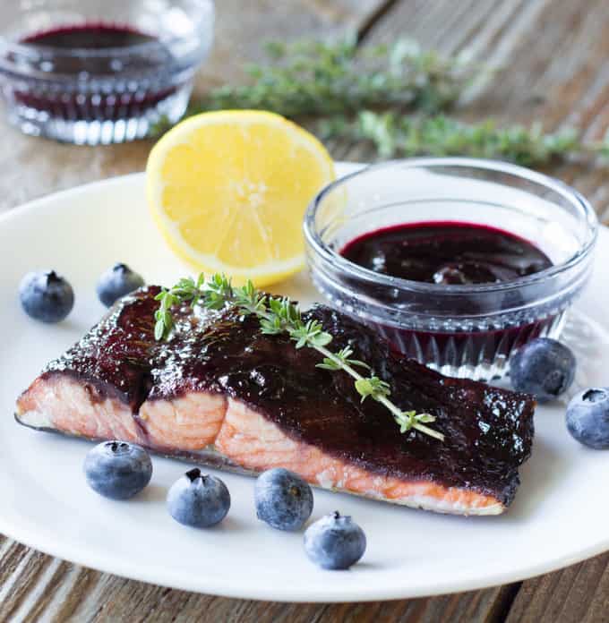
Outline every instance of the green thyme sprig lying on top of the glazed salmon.
POLYGON ((352 359, 353 350, 346 346, 338 352, 331 351, 328 346, 332 336, 323 330, 319 320, 307 320, 296 303, 287 297, 262 294, 254 288, 251 281, 245 286, 232 286, 230 279, 223 275, 213 275, 206 282, 203 275, 196 280, 192 277, 180 279, 176 286, 163 289, 156 295, 159 309, 155 312, 155 338, 167 337, 174 327, 172 307, 177 303, 194 307, 200 304, 213 310, 220 310, 226 306, 234 306, 243 314, 253 314, 260 321, 260 328, 265 335, 279 335, 287 333, 296 348, 313 348, 322 354, 322 363, 317 367, 328 371, 345 371, 355 380, 355 388, 362 402, 371 397, 373 400, 389 409, 401 432, 416 430, 425 433, 437 440, 444 440, 441 432, 433 430, 425 424, 435 421, 431 414, 417 414, 416 411, 402 411, 398 405, 390 400, 390 385, 376 376, 367 363, 352 359), (369 371, 364 376, 356 368, 369 371))

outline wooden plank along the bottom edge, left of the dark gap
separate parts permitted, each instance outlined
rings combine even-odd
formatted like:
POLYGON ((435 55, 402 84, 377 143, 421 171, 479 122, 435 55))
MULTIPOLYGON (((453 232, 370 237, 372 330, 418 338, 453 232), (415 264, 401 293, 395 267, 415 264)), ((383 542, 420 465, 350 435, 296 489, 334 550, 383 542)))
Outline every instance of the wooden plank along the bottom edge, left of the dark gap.
MULTIPOLYGON (((21 568, 10 568, 10 597, 0 600, 0 620, 188 621, 239 623, 491 623, 501 611, 506 588, 395 602, 314 604, 252 602, 176 591, 81 568, 13 545, 21 568), (41 561, 44 564, 41 564, 41 561), (19 590, 13 593, 13 587, 19 590)), ((3 561, 4 566, 4 561, 3 561)), ((3 578, 4 579, 4 578, 3 578)))

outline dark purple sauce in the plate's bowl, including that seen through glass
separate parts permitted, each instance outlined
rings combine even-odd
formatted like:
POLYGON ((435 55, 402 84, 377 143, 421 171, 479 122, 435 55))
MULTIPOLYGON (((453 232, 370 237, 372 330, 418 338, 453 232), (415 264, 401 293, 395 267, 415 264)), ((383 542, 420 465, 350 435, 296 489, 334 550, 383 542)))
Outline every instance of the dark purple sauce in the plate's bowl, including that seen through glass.
MULTIPOLYGON (((347 243, 341 254, 383 275, 437 285, 476 285, 510 281, 551 267, 535 244, 493 227, 459 223, 414 223, 370 232, 347 243)), ((433 296, 433 294, 430 294, 433 296)), ((506 311, 517 308, 518 292, 503 296, 506 311)), ((431 299, 430 299, 431 303, 431 299)), ((460 315, 476 316, 476 297, 464 294, 460 315)), ((372 323, 400 352, 441 369, 476 367, 508 360, 529 340, 551 332, 556 319, 545 316, 504 329, 471 332, 419 330, 372 323)), ((492 376, 492 373, 491 373, 492 376)))

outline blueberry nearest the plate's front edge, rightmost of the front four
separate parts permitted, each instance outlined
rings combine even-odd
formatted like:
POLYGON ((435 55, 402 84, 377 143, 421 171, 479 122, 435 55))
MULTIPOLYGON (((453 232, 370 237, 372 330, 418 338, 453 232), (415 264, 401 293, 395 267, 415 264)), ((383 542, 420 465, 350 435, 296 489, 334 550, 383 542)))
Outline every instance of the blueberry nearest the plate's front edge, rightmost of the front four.
POLYGON ((364 556, 365 533, 339 511, 323 516, 304 533, 304 551, 324 569, 348 569, 364 556))

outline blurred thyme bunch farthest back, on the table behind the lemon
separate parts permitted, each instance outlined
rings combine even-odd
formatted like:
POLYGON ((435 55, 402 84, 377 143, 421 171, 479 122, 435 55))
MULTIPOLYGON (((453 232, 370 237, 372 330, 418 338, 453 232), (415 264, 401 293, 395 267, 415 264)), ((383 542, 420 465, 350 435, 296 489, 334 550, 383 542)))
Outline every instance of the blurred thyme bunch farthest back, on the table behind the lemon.
MULTIPOLYGON (((225 85, 194 101, 186 115, 256 108, 292 119, 355 115, 365 108, 444 110, 480 73, 466 55, 448 57, 399 39, 392 46, 357 47, 355 36, 266 45, 270 62, 249 64, 250 83, 225 85)), ((153 135, 167 130, 160 122, 153 135)))

